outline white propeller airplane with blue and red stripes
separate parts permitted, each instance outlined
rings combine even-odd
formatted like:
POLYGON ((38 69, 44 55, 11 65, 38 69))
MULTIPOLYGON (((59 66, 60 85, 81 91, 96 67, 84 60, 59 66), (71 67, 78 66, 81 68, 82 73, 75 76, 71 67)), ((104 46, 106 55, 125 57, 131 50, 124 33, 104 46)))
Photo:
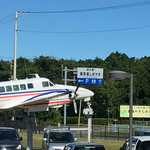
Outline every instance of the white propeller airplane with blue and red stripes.
POLYGON ((54 84, 47 78, 31 74, 26 79, 0 82, 0 111, 27 109, 48 111, 71 101, 90 100, 94 93, 79 86, 54 84))

